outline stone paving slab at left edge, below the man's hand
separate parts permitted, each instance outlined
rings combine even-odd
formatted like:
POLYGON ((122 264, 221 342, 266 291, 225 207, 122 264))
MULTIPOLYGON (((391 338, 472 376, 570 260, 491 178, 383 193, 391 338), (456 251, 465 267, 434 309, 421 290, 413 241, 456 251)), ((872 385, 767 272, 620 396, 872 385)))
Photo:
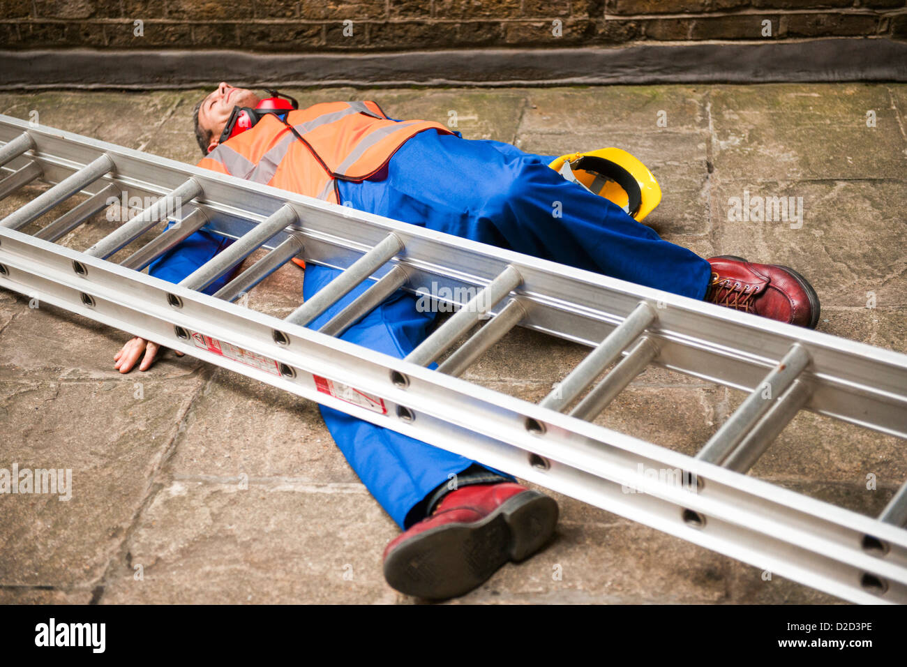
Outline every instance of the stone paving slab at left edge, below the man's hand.
POLYGON ((102 577, 196 388, 137 381, 0 380, 4 467, 69 471, 58 477, 69 493, 0 497, 0 584, 90 590, 102 577))

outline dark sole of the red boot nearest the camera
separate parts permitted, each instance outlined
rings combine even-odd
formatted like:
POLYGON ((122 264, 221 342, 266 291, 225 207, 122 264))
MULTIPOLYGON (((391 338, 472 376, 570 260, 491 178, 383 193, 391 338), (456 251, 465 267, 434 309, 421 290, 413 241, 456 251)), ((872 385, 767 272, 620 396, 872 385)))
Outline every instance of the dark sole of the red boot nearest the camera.
POLYGON ((426 600, 463 595, 508 561, 522 561, 554 533, 558 504, 523 491, 472 524, 439 525, 400 544, 385 558, 385 579, 400 593, 426 600))

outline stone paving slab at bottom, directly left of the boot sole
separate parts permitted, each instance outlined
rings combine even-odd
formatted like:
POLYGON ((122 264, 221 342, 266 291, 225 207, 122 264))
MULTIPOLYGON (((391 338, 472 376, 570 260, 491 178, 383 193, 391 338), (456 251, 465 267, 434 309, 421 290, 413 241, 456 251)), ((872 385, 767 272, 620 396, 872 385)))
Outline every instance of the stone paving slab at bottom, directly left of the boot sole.
POLYGON ((174 479, 134 526, 101 601, 394 603, 379 557, 394 533, 358 484, 174 479))

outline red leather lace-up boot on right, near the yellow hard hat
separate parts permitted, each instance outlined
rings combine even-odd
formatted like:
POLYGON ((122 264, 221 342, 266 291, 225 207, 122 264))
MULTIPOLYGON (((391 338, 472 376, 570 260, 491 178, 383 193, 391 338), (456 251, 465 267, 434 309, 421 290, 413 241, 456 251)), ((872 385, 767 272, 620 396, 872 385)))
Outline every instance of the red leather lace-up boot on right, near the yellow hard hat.
POLYGON ((764 318, 815 329, 819 296, 795 270, 775 264, 754 264, 735 255, 708 260, 712 280, 706 300, 764 318))

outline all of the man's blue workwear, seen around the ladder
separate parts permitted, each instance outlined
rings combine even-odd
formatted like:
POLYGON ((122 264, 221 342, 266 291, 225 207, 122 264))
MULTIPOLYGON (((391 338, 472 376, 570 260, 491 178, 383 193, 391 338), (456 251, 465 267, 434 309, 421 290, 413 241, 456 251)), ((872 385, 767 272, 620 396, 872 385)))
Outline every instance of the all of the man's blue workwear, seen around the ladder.
MULTIPOLYGON (((430 230, 704 298, 711 273, 706 260, 659 239, 619 206, 566 181, 547 166, 552 159, 507 143, 428 130, 405 142, 371 180, 338 181, 340 201, 430 230)), ((151 275, 179 282, 228 242, 198 231, 151 264, 151 275)), ((338 272, 308 264, 303 298, 338 272)), ((205 291, 213 293, 226 280, 205 291)), ((309 328, 321 327, 370 284, 340 299, 309 328)), ((415 304, 414 296, 398 291, 341 338, 403 358, 425 338, 435 315, 415 304)), ((321 414, 356 475, 404 528, 423 518, 414 510, 424 506, 426 495, 474 464, 329 407, 322 406, 321 414)))

